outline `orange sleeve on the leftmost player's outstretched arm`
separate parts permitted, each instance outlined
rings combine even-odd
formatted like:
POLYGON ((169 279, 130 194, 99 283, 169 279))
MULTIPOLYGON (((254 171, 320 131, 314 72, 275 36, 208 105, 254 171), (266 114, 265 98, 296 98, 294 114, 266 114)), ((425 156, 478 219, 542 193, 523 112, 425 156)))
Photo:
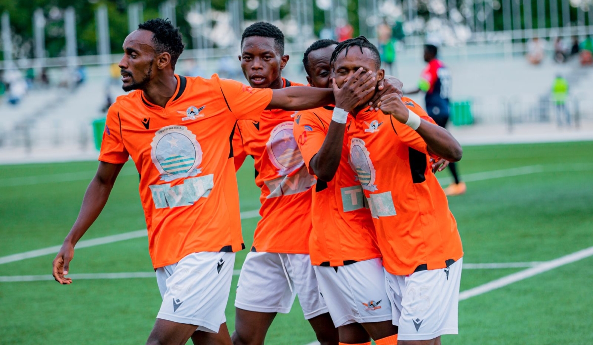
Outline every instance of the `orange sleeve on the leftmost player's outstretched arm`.
POLYGON ((272 89, 254 89, 230 79, 220 79, 225 102, 237 120, 259 121, 262 111, 272 101, 272 89))

